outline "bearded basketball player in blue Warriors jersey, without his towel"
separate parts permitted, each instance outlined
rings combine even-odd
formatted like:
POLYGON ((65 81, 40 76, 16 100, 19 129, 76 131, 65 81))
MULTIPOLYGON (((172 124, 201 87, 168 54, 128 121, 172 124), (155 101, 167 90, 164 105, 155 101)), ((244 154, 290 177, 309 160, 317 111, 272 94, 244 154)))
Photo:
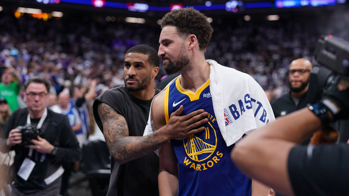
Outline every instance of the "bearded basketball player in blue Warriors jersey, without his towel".
MULTIPOLYGON (((235 144, 227 146, 218 127, 210 91, 213 78, 204 55, 213 32, 207 17, 193 8, 172 10, 163 17, 161 28, 158 56, 166 73, 180 72, 181 76, 154 98, 151 112, 155 128, 165 126, 178 109, 186 115, 202 108, 209 116, 204 131, 161 147, 160 195, 267 196, 268 187, 249 179, 231 162, 229 154, 235 144)), ((225 116, 227 123, 230 117, 225 116)))

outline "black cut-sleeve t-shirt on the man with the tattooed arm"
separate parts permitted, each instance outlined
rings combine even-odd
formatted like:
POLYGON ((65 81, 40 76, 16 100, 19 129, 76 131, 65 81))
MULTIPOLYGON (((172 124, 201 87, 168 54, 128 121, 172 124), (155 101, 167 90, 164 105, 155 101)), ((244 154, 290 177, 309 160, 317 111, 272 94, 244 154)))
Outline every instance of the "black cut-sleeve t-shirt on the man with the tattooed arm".
MULTIPOLYGON (((156 89, 155 95, 160 90, 156 89)), ((104 91, 93 104, 93 112, 99 129, 103 132, 97 107, 103 102, 124 116, 129 136, 143 136, 147 125, 151 100, 140 100, 128 92, 125 86, 104 91)), ((111 176, 107 195, 134 196, 158 195, 157 174, 159 157, 150 153, 139 159, 119 165, 111 159, 111 176)))

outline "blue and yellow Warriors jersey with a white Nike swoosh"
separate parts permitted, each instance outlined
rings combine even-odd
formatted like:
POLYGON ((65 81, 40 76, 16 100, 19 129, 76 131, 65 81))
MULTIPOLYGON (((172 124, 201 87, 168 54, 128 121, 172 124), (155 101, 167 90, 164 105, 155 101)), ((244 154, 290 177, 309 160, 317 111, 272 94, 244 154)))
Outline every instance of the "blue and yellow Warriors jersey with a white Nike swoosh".
POLYGON ((181 115, 203 109, 209 116, 204 131, 184 140, 171 140, 178 159, 178 195, 251 195, 251 179, 230 160, 234 145, 226 145, 218 128, 209 80, 195 93, 183 89, 179 78, 168 86, 164 99, 166 123, 180 105, 184 106, 181 115))

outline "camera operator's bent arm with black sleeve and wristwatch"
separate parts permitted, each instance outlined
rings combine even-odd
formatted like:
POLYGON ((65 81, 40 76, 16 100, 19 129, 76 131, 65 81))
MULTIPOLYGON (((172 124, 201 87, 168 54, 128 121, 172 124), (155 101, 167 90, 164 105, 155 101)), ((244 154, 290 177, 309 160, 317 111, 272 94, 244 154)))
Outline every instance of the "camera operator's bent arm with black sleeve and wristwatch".
POLYGON ((349 195, 347 144, 297 145, 322 126, 349 118, 348 86, 348 78, 340 78, 319 102, 254 131, 232 150, 232 160, 280 194, 349 195))

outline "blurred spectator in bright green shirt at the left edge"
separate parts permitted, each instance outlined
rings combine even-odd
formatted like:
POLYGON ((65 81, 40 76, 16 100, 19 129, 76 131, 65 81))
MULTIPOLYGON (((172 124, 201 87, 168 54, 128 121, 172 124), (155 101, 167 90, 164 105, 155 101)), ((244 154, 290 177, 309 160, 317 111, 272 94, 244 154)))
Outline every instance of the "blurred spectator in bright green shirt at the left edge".
POLYGON ((0 83, 0 96, 6 99, 12 112, 18 108, 17 97, 20 92, 21 81, 21 77, 14 68, 7 67, 3 70, 0 83), (13 81, 14 76, 16 77, 16 82, 13 81))

